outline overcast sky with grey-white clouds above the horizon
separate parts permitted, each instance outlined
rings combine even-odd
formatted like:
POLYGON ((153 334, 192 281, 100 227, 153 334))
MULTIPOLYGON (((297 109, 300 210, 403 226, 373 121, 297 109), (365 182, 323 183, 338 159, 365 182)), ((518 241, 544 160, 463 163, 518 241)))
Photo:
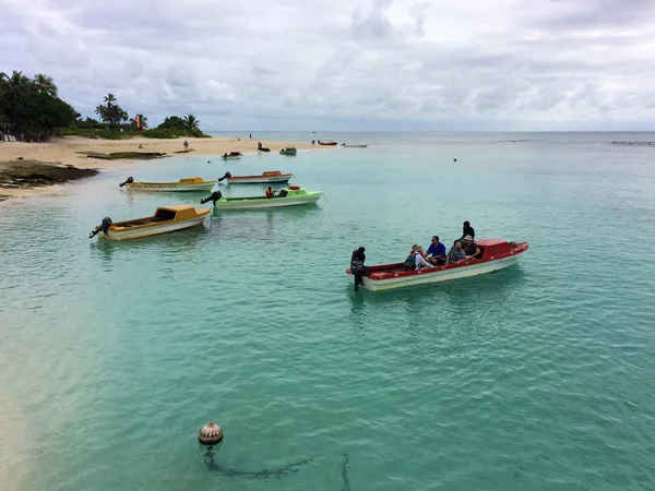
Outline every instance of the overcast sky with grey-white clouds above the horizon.
POLYGON ((655 130, 655 0, 0 0, 0 71, 205 130, 655 130))

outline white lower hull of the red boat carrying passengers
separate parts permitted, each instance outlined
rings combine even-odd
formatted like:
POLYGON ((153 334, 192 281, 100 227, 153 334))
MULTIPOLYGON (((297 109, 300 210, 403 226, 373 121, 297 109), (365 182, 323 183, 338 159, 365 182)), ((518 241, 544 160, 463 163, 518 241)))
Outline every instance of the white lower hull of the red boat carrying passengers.
POLYGON ((433 273, 428 273, 431 270, 426 270, 426 273, 418 272, 413 276, 398 276, 389 279, 370 279, 368 276, 365 276, 364 287, 371 291, 381 291, 415 285, 426 285, 429 283, 448 282, 450 279, 466 278, 468 276, 484 275, 486 273, 504 270, 505 267, 516 264, 520 259, 521 254, 515 254, 500 260, 486 261, 480 264, 472 264, 471 266, 461 266, 433 273))

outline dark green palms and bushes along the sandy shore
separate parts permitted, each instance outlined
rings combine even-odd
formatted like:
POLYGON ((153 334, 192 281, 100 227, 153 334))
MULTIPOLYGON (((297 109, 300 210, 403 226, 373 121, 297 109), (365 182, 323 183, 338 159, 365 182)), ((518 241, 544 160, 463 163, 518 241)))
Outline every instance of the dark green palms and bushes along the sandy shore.
POLYGON ((148 129, 147 117, 134 115, 130 119, 114 94, 107 94, 103 104, 95 108, 99 120, 83 119, 57 93, 52 77, 43 73, 28 79, 17 70, 11 75, 0 72, 0 129, 9 128, 11 134, 26 141, 51 135, 107 140, 209 137, 200 130, 200 121, 193 115, 169 116, 155 129, 148 129))

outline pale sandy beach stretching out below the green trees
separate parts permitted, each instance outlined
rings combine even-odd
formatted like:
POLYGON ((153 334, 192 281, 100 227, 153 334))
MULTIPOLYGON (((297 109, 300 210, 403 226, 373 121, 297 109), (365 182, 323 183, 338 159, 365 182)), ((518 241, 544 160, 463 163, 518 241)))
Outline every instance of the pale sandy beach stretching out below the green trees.
MULTIPOLYGON (((170 140, 146 139, 136 136, 128 140, 96 140, 83 136, 63 136, 52 139, 46 143, 23 143, 23 142, 2 142, 0 143, 0 173, 10 172, 20 169, 22 163, 27 168, 29 165, 51 167, 53 173, 59 173, 59 168, 73 166, 76 170, 95 169, 99 172, 112 171, 131 167, 138 161, 152 163, 158 158, 133 159, 133 158, 95 158, 86 154, 110 154, 117 152, 142 152, 166 154, 160 158, 181 157, 181 156, 204 156, 212 155, 219 157, 224 153, 258 152, 257 145, 261 142, 264 147, 271 148, 271 152, 293 146, 298 149, 319 148, 311 143, 289 143, 272 140, 242 140, 237 137, 213 136, 210 139, 179 137, 170 140), (189 152, 183 152, 182 143, 189 142, 189 152), (140 145, 142 146, 140 148, 140 145)), ((321 147, 322 148, 322 147, 321 147)), ((69 167, 70 168, 70 167, 69 167)), ((66 182, 70 182, 66 180, 66 182)), ((40 176, 36 176, 34 183, 29 182, 29 177, 21 181, 21 187, 4 187, 0 183, 0 204, 11 201, 12 197, 29 197, 55 191, 57 188, 63 188, 66 182, 43 184, 40 176)))

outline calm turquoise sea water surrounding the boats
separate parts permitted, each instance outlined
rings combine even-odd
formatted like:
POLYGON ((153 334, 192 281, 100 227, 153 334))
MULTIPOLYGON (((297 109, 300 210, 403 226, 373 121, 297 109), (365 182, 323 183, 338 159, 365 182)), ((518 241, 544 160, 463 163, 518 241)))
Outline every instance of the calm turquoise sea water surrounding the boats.
POLYGON ((655 135, 346 136, 371 146, 157 160, 0 206, 3 491, 655 487, 655 148, 607 143, 655 135), (326 200, 87 239, 198 199, 128 195, 128 173, 270 169, 326 200), (464 219, 531 250, 352 291, 356 247, 401 261, 464 219))

